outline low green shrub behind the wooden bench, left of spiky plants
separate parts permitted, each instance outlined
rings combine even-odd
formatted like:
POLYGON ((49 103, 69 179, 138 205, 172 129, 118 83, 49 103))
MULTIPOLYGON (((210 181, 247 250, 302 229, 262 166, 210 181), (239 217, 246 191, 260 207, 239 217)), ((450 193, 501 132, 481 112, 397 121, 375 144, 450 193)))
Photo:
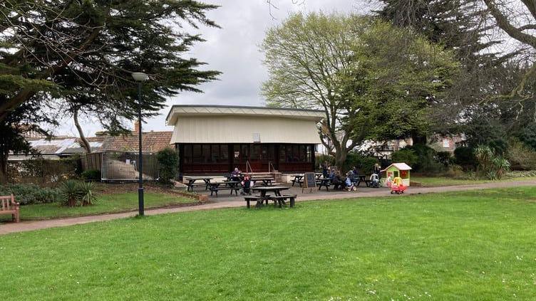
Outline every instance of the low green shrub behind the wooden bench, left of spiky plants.
POLYGON ((14 194, 21 205, 54 203, 61 200, 59 189, 40 187, 36 184, 12 184, 0 186, 0 195, 14 194))

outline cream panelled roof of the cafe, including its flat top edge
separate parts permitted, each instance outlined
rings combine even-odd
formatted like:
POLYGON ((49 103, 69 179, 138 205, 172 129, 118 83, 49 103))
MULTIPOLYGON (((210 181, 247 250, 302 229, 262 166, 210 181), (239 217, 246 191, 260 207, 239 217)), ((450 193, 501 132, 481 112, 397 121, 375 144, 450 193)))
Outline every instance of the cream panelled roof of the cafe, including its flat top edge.
POLYGON ((175 143, 320 144, 317 123, 324 113, 268 107, 176 105, 168 125, 175 143))

